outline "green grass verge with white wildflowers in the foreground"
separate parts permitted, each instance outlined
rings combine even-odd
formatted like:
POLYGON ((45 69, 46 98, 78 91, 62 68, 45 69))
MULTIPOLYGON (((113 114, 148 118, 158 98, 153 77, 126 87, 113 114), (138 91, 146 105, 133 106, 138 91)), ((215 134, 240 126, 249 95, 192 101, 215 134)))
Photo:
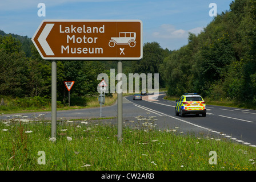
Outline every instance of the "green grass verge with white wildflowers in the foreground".
POLYGON ((183 135, 177 127, 161 131, 154 121, 153 117, 127 121, 122 142, 113 123, 61 121, 57 137, 50 138, 49 122, 1 121, 0 170, 256 170, 254 147, 183 135), (209 155, 211 151, 216 159, 209 155))

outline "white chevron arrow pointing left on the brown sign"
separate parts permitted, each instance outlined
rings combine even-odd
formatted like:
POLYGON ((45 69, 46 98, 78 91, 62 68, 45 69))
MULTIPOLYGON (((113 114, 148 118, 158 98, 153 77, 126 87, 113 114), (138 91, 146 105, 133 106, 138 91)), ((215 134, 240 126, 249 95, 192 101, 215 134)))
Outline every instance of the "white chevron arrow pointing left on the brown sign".
POLYGON ((41 35, 38 38, 38 42, 39 44, 41 44, 43 51, 45 51, 47 56, 54 56, 53 51, 51 50, 49 44, 46 41, 46 38, 50 34, 50 31, 53 28, 53 26, 54 26, 54 23, 47 23, 45 25, 45 28, 43 28, 41 35))

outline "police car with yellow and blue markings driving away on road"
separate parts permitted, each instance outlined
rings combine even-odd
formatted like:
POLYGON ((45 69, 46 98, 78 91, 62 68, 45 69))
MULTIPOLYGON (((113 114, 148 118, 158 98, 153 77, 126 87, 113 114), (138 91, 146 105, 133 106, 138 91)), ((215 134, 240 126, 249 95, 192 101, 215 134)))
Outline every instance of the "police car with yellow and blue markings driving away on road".
POLYGON ((185 93, 176 102, 175 115, 181 114, 183 117, 185 114, 202 114, 202 117, 206 117, 205 101, 198 94, 185 93))

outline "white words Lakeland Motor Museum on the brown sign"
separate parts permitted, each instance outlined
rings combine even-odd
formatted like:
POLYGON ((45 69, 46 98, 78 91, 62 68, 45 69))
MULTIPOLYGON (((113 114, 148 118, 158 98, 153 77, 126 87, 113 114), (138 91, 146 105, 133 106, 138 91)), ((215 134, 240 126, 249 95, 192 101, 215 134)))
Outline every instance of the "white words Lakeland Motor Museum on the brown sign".
MULTIPOLYGON (((66 43, 67 44, 96 44, 98 37, 91 37, 87 34, 104 34, 105 25, 102 27, 86 27, 85 24, 82 27, 75 27, 73 24, 71 26, 62 27, 59 25, 59 32, 67 35, 66 43), (81 36, 75 36, 70 34, 83 34, 81 36)), ((71 46, 61 46, 61 53, 84 53, 84 54, 102 54, 102 47, 71 47, 71 46)))

